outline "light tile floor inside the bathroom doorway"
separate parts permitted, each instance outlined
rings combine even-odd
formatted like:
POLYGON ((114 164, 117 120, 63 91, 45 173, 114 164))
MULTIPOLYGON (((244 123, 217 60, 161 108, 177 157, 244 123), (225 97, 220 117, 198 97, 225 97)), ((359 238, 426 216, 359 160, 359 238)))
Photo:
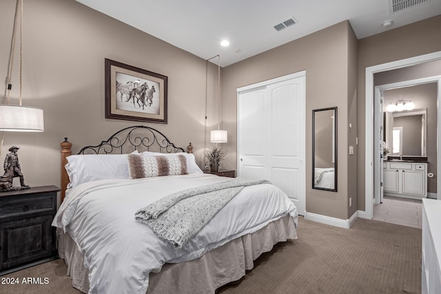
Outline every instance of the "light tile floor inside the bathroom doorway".
POLYGON ((373 204, 373 220, 421 229, 422 201, 384 196, 382 203, 373 204))

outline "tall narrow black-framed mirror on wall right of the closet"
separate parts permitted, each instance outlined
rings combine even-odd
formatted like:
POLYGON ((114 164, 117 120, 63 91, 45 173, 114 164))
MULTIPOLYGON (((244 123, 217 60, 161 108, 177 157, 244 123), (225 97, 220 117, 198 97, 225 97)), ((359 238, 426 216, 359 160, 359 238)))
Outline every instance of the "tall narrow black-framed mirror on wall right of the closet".
POLYGON ((312 111, 312 189, 337 191, 337 107, 312 111))

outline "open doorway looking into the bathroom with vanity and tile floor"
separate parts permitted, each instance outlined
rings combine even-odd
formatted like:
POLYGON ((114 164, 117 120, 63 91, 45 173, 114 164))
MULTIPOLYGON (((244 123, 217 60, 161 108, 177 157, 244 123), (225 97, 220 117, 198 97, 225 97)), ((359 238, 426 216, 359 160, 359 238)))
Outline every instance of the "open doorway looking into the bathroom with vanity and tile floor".
MULTIPOLYGON (((386 73, 382 75, 386 76, 386 73)), ((389 80, 396 75, 397 72, 389 72, 389 80)), ((373 203, 373 220, 421 229, 422 198, 429 194, 436 197, 436 178, 429 178, 427 175, 438 174, 436 129, 439 78, 441 76, 376 86, 374 104, 380 101, 380 105, 384 107, 380 107, 378 117, 376 116, 374 121, 374 129, 380 129, 380 133, 383 129, 384 136, 380 134, 379 137, 375 137, 374 146, 385 142, 384 148, 389 150, 389 156, 395 156, 395 160, 398 160, 398 156, 402 156, 404 160, 410 158, 427 163, 424 163, 422 167, 418 166, 417 171, 402 170, 398 173, 391 166, 400 165, 400 162, 383 162, 384 158, 380 158, 377 168, 378 162, 374 160, 374 191, 376 193, 373 203), (396 101, 407 101, 406 103, 411 104, 415 109, 391 109, 391 106, 396 105, 396 101), (382 128, 382 118, 385 118, 384 128, 382 128), (404 174, 404 171, 407 172, 404 174), (379 180, 378 176, 381 174, 384 178, 379 180), (413 185, 412 187, 420 185, 420 190, 412 191, 411 194, 405 193, 404 189, 409 187, 406 184, 413 185), (382 189, 384 189, 384 199, 382 189), (429 191, 432 193, 428 193, 429 191)), ((382 149, 378 151, 384 155, 382 149)), ((407 164, 404 163, 404 165, 407 164)))

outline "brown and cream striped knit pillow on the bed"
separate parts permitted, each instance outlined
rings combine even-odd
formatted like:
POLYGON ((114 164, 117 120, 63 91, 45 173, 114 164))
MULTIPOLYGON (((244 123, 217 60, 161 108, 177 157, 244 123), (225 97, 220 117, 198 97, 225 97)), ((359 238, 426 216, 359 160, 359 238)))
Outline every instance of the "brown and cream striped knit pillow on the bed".
POLYGON ((185 175, 187 159, 178 156, 147 156, 147 154, 129 154, 130 178, 149 178, 154 176, 185 175))

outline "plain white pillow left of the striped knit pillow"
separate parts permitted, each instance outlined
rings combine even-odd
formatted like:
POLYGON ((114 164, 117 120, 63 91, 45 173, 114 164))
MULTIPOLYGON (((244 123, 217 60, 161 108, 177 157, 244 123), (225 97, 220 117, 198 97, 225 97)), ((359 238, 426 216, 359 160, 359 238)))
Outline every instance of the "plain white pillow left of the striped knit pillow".
POLYGON ((130 178, 127 154, 83 154, 67 157, 68 189, 83 182, 130 178))

